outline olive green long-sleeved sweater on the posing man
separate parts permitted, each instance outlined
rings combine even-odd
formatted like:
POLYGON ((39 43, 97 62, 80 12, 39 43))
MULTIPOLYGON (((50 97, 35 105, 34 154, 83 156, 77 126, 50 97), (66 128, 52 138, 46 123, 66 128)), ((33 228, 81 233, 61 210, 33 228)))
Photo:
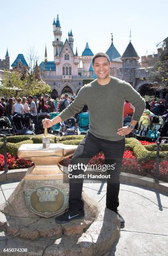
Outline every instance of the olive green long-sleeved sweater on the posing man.
POLYGON ((116 77, 106 85, 100 85, 97 79, 81 87, 73 103, 60 114, 64 121, 87 104, 89 108, 89 132, 98 138, 120 141, 124 138, 117 134, 123 126, 124 100, 135 107, 132 119, 138 121, 145 109, 145 100, 129 83, 116 77))

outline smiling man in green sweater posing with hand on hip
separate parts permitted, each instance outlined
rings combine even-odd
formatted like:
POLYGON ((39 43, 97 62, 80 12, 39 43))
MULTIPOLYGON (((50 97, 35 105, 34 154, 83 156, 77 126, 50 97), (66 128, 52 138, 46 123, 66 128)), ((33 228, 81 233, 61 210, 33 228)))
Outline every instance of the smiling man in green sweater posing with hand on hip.
MULTIPOLYGON (((115 169, 107 170, 110 178, 107 179, 106 207, 116 212, 121 225, 124 219, 117 211, 119 206, 120 168, 125 150, 125 135, 129 134, 145 109, 145 100, 125 81, 109 76, 109 56, 104 53, 94 55, 92 67, 97 79, 81 87, 71 105, 64 109, 56 118, 43 120, 43 127, 49 128, 59 123, 87 104, 89 108, 90 128, 87 136, 81 141, 74 152, 70 164, 87 164, 100 151, 104 153, 106 162, 115 161, 115 169), (123 127, 124 100, 128 100, 135 107, 129 125, 123 127), (101 104, 99 104, 101 102, 101 104)), ((71 172, 83 174, 82 169, 71 172)), ((67 223, 70 220, 84 218, 84 202, 81 200, 83 179, 75 181, 69 179, 69 209, 58 217, 57 223, 67 223), (75 183, 76 182, 76 183, 75 183)))

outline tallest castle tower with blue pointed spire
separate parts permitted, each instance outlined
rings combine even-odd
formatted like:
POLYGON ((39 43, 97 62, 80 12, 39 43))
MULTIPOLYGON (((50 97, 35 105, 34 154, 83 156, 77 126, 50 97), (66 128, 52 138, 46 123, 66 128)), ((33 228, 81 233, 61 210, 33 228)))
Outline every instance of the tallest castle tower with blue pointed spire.
POLYGON ((56 22, 55 22, 55 19, 53 20, 53 34, 54 34, 53 48, 54 48, 54 56, 55 56, 56 48, 58 49, 58 54, 60 54, 60 51, 64 44, 61 41, 62 31, 59 23, 59 15, 57 15, 56 22))

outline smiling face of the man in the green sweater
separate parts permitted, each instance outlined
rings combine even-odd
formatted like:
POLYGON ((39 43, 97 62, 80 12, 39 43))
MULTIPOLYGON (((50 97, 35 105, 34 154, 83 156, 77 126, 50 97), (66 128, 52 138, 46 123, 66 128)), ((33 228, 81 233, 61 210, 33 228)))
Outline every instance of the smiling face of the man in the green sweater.
POLYGON ((94 60, 93 69, 99 79, 109 76, 110 63, 106 57, 98 57, 94 60))

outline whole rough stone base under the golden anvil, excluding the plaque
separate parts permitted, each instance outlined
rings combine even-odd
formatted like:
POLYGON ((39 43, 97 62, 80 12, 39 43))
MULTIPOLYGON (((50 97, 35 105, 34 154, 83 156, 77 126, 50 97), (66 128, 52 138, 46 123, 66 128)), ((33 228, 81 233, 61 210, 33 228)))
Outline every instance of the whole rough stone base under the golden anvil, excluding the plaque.
MULTIPOLYGON (((120 219, 115 212, 100 208, 83 192, 84 219, 58 224, 55 216, 43 218, 27 208, 23 191, 42 185, 45 180, 22 179, 8 201, 0 205, 1 256, 19 255, 17 251, 4 252, 4 248, 27 248, 21 254, 29 256, 97 256, 111 250, 120 236, 120 219)), ((61 180, 48 180, 47 185, 69 187, 61 180)))

